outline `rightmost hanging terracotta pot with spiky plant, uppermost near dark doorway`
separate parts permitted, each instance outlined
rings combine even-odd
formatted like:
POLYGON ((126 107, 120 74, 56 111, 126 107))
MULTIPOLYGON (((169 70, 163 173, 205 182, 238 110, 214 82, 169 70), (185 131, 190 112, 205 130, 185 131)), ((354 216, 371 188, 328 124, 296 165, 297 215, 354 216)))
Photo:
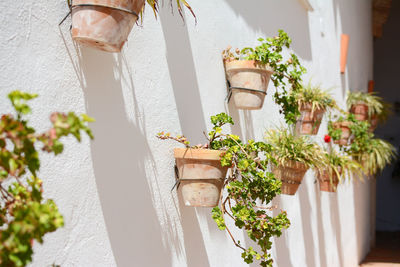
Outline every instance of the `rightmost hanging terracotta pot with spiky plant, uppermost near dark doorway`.
POLYGON ((378 122, 387 120, 391 113, 391 105, 374 93, 349 92, 347 107, 357 120, 368 120, 370 131, 374 131, 378 122))

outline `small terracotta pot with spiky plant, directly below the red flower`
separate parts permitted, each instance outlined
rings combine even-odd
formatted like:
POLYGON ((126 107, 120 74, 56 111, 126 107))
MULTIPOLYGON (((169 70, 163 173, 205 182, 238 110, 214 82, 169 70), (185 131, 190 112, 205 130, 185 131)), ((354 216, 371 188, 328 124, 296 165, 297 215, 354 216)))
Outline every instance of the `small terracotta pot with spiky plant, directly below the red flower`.
MULTIPOLYGON (((330 142, 325 136, 325 142, 330 142)), ((325 192, 336 192, 339 182, 352 173, 361 174, 361 165, 346 155, 337 153, 330 148, 324 151, 325 167, 317 169, 319 189, 325 192)))

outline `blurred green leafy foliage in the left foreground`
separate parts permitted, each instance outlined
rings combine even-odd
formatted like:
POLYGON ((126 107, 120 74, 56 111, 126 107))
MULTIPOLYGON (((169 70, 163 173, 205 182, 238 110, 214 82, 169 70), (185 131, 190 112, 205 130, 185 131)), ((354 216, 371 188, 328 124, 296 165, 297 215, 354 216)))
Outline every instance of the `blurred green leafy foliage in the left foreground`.
POLYGON ((53 113, 52 128, 38 134, 23 119, 31 112, 26 101, 37 95, 14 91, 8 97, 17 117, 5 114, 0 119, 0 266, 25 266, 32 261, 33 241, 43 243, 44 235, 64 224, 55 203, 43 199, 37 148, 41 145, 43 151, 59 154, 63 136, 80 141, 82 130, 92 138, 87 122, 93 119, 53 113), (25 179, 29 174, 31 178, 25 179))

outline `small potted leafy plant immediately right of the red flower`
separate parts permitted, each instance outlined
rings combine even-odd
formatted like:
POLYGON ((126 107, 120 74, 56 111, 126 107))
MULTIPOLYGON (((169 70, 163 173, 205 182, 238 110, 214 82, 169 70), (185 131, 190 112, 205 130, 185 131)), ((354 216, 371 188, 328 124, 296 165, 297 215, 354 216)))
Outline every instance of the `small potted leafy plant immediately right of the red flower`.
POLYGON ((333 142, 339 146, 346 146, 351 137, 350 126, 354 120, 354 115, 339 116, 335 121, 329 120, 328 134, 333 142), (350 117, 349 117, 350 116, 350 117))

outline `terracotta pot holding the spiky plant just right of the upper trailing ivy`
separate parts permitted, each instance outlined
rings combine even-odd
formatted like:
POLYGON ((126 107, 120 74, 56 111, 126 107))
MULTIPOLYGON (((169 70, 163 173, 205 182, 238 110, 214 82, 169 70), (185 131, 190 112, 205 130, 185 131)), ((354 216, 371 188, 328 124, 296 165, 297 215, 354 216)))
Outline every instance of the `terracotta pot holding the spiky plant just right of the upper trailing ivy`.
POLYGON ((300 108, 300 117, 296 122, 296 133, 298 135, 316 135, 321 125, 325 110, 315 109, 312 111, 312 105, 307 103, 300 108))

